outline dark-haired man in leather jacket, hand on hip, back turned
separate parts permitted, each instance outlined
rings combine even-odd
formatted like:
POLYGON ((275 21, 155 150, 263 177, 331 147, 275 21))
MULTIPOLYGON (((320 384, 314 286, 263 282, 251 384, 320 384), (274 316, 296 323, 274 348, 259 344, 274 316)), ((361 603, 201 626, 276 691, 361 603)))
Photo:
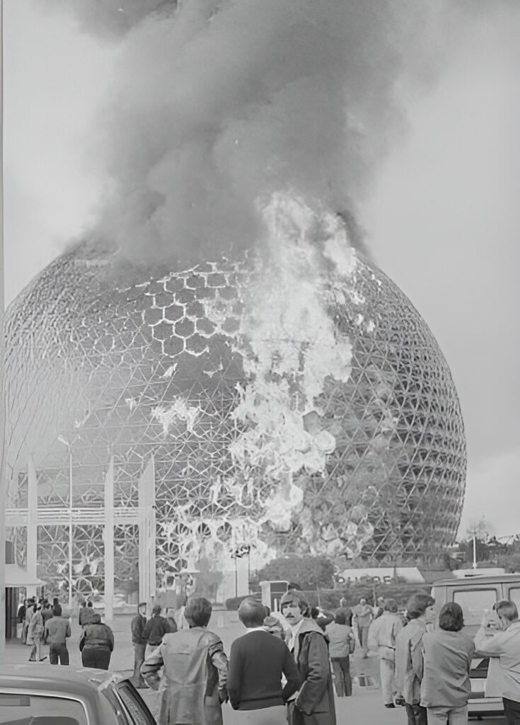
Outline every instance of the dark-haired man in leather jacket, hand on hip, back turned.
POLYGON ((162 644, 141 666, 148 687, 161 692, 158 725, 222 725, 227 657, 220 638, 206 629, 211 603, 204 597, 189 599, 185 617, 189 629, 164 634, 162 644), (164 674, 159 687, 161 668, 164 674))

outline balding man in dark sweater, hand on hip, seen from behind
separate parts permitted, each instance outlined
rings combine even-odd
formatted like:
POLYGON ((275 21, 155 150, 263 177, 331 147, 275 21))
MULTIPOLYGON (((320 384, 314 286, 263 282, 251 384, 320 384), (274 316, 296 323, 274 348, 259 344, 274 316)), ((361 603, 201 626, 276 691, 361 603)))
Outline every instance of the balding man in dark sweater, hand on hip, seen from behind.
POLYGON ((238 608, 246 634, 231 645, 227 692, 232 708, 243 711, 240 722, 284 725, 284 705, 298 689, 300 676, 287 645, 264 626, 264 615, 264 605, 253 597, 238 608))

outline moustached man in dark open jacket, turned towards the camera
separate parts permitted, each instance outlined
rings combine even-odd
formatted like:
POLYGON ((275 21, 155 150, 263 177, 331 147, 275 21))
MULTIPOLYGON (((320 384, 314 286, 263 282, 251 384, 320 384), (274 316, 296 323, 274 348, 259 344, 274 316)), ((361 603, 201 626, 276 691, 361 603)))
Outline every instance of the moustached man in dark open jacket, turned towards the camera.
POLYGON ((280 601, 290 624, 288 647, 300 673, 301 686, 288 704, 289 725, 335 725, 334 690, 327 637, 311 618, 302 592, 290 589, 280 601))

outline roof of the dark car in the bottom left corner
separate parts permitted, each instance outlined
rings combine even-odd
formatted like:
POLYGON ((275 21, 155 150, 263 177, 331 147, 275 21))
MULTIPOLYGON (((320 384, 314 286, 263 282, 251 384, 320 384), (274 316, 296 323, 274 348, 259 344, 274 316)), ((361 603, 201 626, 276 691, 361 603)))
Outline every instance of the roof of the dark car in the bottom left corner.
POLYGON ((48 664, 0 664, 1 687, 31 687, 88 696, 100 685, 125 679, 117 672, 94 668, 50 667, 48 664))

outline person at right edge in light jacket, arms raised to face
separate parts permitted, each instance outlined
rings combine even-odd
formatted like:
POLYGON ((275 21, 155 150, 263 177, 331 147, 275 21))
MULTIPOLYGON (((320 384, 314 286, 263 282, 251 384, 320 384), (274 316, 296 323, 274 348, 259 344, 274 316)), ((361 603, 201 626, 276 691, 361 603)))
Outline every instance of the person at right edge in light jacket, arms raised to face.
POLYGON ((514 602, 502 600, 495 605, 503 631, 490 629, 485 615, 475 636, 475 647, 482 655, 500 657, 502 699, 508 725, 520 724, 520 621, 514 602))

